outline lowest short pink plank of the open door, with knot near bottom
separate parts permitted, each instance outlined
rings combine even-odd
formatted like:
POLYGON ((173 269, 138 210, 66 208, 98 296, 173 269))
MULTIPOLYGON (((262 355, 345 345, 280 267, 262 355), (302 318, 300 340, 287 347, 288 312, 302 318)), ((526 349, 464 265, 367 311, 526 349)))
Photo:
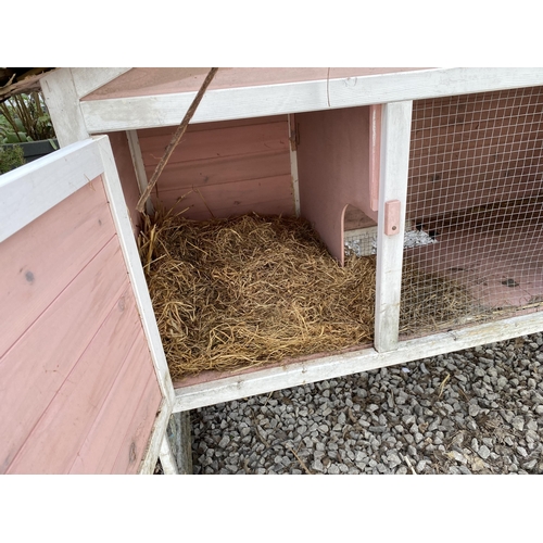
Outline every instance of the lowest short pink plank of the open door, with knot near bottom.
POLYGON ((146 453, 161 403, 162 396, 156 378, 151 376, 123 437, 117 458, 110 469, 111 473, 136 473, 138 471, 138 459, 146 453))

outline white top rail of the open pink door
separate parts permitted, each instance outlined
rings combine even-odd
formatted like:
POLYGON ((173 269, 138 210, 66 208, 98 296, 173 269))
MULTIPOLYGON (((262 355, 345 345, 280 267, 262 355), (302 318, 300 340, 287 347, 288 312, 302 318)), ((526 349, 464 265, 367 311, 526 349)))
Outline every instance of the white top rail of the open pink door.
POLYGON ((98 146, 86 140, 0 176, 0 242, 102 173, 98 146))

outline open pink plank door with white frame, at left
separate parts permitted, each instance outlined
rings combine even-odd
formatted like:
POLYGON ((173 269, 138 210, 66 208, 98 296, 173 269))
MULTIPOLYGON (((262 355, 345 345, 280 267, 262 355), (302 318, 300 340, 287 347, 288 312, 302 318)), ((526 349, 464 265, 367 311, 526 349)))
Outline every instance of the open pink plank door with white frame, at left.
POLYGON ((152 472, 173 389, 109 139, 0 202, 0 473, 152 472))

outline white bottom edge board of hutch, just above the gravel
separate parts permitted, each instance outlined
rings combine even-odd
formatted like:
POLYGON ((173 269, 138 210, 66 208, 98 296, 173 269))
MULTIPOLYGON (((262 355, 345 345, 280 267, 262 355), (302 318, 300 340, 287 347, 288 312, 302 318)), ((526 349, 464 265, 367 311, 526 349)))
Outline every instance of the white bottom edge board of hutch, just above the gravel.
POLYGON ((176 389, 174 413, 405 364, 541 330, 543 330, 543 312, 402 341, 395 351, 378 353, 374 349, 365 349, 282 367, 260 369, 250 374, 176 389))

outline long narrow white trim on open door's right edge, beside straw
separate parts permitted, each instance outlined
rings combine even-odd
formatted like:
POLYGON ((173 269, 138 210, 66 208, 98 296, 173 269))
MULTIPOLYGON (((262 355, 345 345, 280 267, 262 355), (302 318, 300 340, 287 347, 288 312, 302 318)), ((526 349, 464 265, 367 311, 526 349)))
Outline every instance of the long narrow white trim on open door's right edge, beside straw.
POLYGON ((139 258, 138 248, 134 238, 130 214, 128 213, 128 209, 126 206, 110 139, 106 136, 97 136, 94 141, 98 143, 104 165, 104 187, 108 200, 110 201, 113 222, 115 223, 128 276, 130 277, 130 281, 132 283, 136 303, 138 304, 141 323, 143 325, 149 350, 156 370, 159 384, 162 394, 167 402, 167 407, 172 405, 174 399, 174 388, 172 386, 166 355, 164 354, 162 339, 156 325, 151 298, 149 295, 149 289, 143 275, 143 268, 139 258))

